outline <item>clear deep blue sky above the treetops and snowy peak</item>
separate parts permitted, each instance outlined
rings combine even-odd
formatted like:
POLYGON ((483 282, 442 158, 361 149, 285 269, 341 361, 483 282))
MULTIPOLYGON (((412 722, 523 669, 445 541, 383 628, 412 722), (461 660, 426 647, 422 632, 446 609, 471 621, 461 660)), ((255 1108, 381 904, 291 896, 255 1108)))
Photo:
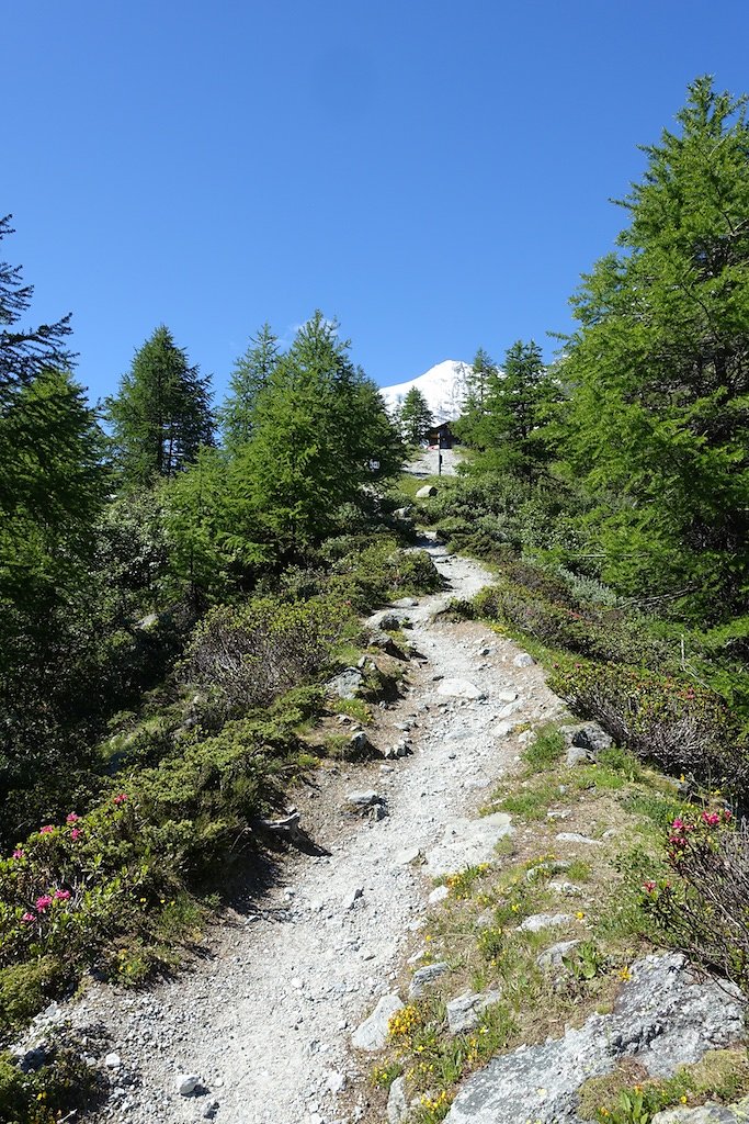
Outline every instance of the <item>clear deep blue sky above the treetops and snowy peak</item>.
POLYGON ((749 90, 714 0, 6 4, 1 256, 111 392, 161 323, 221 393, 268 320, 337 316, 380 384, 566 330, 639 143, 749 90))

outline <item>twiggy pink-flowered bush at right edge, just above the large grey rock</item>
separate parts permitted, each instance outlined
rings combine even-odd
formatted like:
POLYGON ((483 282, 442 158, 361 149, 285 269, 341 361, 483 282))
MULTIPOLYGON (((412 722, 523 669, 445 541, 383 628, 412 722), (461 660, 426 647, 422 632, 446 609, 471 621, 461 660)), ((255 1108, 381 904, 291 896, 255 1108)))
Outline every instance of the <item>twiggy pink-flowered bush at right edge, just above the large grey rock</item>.
POLYGON ((693 963, 749 997, 749 826, 725 808, 677 816, 666 836, 667 879, 643 885, 643 907, 693 963))

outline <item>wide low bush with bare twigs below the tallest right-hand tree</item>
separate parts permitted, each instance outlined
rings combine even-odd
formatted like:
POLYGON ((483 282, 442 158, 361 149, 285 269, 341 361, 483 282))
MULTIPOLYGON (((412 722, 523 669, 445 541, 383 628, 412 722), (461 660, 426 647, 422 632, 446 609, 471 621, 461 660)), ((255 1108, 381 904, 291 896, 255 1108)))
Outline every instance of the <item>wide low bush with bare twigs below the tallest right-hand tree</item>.
POLYGON ((670 773, 692 773, 742 798, 749 752, 723 699, 689 680, 632 667, 557 665, 549 686, 575 714, 595 718, 621 745, 670 773))

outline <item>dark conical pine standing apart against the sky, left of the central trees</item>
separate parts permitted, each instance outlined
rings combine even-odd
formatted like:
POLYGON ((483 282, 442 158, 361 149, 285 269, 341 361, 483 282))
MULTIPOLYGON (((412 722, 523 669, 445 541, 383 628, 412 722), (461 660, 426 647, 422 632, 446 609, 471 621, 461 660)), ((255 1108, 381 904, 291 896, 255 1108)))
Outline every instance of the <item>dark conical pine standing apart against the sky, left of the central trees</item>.
POLYGON ((209 388, 168 328, 156 328, 107 400, 115 460, 128 483, 170 479, 212 443, 209 388))

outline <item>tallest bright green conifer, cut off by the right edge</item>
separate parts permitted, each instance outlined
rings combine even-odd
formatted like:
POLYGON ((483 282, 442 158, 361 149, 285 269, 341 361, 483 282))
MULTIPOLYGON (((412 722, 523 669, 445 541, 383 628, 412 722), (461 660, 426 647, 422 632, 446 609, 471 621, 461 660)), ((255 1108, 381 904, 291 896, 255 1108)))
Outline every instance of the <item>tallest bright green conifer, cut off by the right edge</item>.
POLYGON ((573 300, 569 472, 609 496, 605 577, 705 614, 749 582, 749 127, 696 80, 573 300), (686 604, 686 602, 685 602, 686 604))

